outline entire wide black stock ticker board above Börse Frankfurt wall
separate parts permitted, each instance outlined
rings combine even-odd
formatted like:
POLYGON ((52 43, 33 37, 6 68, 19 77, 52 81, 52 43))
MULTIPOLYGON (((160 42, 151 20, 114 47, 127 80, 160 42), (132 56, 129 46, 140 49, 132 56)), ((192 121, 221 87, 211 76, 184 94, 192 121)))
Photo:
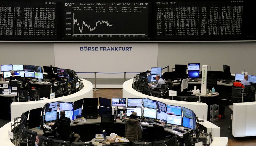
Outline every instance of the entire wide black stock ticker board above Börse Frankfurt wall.
POLYGON ((248 0, 0 0, 0 40, 255 40, 248 0))

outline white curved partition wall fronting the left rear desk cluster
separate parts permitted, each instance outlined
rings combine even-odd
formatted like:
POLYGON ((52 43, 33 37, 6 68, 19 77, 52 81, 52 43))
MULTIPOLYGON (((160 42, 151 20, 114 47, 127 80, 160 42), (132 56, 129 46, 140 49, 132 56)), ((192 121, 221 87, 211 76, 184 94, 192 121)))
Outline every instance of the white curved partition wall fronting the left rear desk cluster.
POLYGON ((43 107, 46 103, 56 101, 75 102, 76 100, 83 98, 92 98, 92 83, 83 79, 83 84, 83 89, 68 96, 39 101, 13 102, 11 104, 11 119, 14 119, 15 117, 20 117, 23 112, 26 112, 28 110, 43 107))

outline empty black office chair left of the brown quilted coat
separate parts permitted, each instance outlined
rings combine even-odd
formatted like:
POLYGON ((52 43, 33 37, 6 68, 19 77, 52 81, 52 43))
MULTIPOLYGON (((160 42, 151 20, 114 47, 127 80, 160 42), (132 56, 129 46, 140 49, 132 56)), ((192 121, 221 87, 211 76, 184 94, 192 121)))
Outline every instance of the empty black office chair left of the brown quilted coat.
POLYGON ((114 115, 101 116, 100 124, 96 124, 100 127, 100 131, 107 131, 107 133, 112 133, 114 129, 114 115))

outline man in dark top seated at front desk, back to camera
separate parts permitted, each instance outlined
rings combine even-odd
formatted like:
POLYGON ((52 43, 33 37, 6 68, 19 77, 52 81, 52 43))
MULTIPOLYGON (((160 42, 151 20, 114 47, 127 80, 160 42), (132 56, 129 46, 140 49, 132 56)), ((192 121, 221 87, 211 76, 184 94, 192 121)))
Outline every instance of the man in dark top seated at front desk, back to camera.
MULTIPOLYGON (((52 123, 52 130, 54 130, 55 128, 58 128, 56 123, 60 124, 60 125, 61 124, 70 125, 71 121, 70 121, 70 118, 66 117, 65 111, 60 111, 60 118, 57 119, 54 124, 52 123), (62 121, 64 121, 64 122, 62 122, 62 121)), ((73 135, 70 134, 70 138, 72 138, 72 136, 73 135)), ((80 136, 76 133, 76 134, 74 134, 74 138, 75 138, 74 142, 78 142, 80 136)))

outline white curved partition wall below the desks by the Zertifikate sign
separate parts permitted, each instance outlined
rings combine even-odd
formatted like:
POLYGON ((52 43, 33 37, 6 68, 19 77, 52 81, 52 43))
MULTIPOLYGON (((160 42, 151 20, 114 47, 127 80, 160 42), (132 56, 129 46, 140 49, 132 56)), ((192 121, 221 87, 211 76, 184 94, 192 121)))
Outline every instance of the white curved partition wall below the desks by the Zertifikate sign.
POLYGON ((132 88, 133 79, 130 79, 123 84, 123 98, 150 98, 153 100, 158 100, 169 105, 183 106, 193 110, 199 118, 207 120, 207 108, 206 103, 196 103, 196 102, 186 102, 186 101, 176 101, 163 98, 157 98, 149 95, 142 94, 132 88))

